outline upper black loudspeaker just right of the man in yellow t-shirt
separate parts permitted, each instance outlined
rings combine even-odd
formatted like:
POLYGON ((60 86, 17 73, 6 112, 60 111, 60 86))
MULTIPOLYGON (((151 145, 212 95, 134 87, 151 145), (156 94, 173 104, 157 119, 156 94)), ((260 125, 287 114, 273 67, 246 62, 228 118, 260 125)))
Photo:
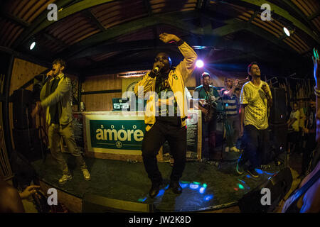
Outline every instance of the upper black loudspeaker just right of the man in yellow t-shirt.
POLYGON ((286 94, 283 88, 272 87, 272 106, 270 109, 271 123, 286 123, 287 106, 286 94))

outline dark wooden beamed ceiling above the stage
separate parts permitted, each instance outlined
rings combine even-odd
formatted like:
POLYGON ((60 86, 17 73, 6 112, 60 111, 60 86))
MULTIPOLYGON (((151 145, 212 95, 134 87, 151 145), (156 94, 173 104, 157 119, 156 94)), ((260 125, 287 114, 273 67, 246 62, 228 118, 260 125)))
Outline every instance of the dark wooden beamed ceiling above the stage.
POLYGON ((11 0, 1 1, 0 46, 51 62, 63 57, 80 75, 149 68, 163 32, 186 40, 206 62, 309 60, 319 46, 318 0, 11 0), (260 6, 270 4, 272 21, 260 6), (48 21, 48 4, 58 21, 48 21), (294 33, 287 37, 283 27, 294 33), (36 40, 36 48, 29 45, 36 40), (285 58, 285 59, 284 59, 285 58))

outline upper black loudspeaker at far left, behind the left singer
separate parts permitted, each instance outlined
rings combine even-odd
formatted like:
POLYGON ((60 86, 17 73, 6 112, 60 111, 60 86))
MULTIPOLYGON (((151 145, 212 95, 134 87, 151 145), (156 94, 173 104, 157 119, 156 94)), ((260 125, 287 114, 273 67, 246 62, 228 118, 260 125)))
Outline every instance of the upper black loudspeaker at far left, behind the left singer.
POLYGON ((14 109, 14 128, 31 128, 32 118, 32 92, 26 89, 18 89, 11 96, 14 109))

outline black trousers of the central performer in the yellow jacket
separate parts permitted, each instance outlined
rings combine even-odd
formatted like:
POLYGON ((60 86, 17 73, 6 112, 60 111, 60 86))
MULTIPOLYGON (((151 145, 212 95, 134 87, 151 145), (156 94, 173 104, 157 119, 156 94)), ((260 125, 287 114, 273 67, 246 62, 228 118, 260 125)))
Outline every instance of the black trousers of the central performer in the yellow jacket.
POLYGON ((170 179, 178 181, 186 165, 186 127, 181 128, 178 123, 174 125, 166 121, 157 120, 154 126, 146 132, 142 143, 144 167, 153 184, 158 184, 162 181, 156 155, 166 140, 169 142, 171 155, 174 156, 174 167, 170 179))

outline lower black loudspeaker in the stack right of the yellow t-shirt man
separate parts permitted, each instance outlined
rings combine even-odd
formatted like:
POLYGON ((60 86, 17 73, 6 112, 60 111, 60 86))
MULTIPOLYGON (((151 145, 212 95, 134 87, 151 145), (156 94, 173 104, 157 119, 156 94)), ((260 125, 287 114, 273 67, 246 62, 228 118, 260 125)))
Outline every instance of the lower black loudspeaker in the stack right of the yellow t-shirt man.
POLYGON ((270 143, 276 152, 282 153, 282 151, 287 150, 287 135, 288 126, 287 123, 273 124, 270 123, 270 143))

